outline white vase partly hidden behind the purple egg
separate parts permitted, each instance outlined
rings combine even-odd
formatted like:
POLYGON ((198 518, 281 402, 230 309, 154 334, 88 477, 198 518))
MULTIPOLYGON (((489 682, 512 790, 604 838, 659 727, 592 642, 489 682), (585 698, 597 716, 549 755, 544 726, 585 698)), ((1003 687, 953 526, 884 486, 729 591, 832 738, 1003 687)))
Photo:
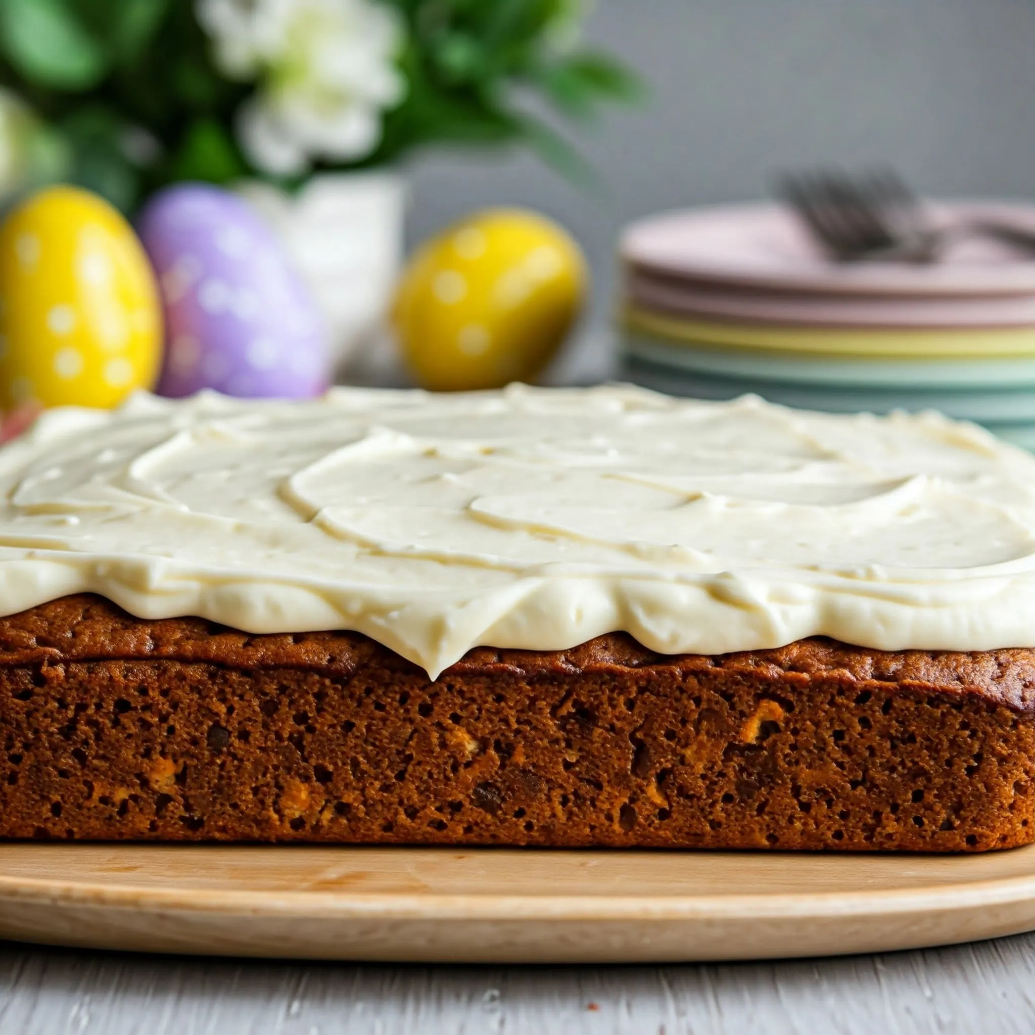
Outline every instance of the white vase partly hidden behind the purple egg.
POLYGON ((383 342, 404 257, 405 178, 328 173, 295 195, 257 180, 239 189, 279 234, 323 312, 335 369, 383 342))

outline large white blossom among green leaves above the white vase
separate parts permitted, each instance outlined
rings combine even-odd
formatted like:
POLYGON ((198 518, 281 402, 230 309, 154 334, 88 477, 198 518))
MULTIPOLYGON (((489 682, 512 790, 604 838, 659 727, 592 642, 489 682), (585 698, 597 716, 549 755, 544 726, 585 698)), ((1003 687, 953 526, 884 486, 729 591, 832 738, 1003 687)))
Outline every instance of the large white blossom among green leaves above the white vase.
POLYGON ((237 128, 259 169, 295 175, 314 158, 350 161, 377 147, 382 112, 405 88, 392 10, 374 0, 198 0, 198 20, 224 75, 258 83, 237 128))

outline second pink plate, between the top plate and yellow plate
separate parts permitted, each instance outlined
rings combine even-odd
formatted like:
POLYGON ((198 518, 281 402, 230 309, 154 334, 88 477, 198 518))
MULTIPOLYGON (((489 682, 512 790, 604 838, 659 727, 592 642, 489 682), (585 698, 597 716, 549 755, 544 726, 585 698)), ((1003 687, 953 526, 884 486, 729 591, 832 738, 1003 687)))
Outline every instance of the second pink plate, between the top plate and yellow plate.
POLYGON ((629 267, 625 299, 640 309, 698 320, 793 327, 1031 327, 1035 295, 825 295, 723 289, 629 267))

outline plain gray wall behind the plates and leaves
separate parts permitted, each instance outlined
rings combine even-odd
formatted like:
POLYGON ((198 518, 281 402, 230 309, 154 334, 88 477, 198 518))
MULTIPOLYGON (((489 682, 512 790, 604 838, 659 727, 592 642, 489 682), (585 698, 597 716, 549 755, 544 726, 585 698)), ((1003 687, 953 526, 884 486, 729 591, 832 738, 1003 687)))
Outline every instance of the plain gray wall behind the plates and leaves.
POLYGON ((597 0, 587 36, 650 87, 581 137, 600 191, 527 155, 425 156, 410 234, 483 205, 553 215, 593 266, 591 332, 624 223, 762 197, 776 169, 887 160, 931 194, 1035 198, 1035 0, 597 0))

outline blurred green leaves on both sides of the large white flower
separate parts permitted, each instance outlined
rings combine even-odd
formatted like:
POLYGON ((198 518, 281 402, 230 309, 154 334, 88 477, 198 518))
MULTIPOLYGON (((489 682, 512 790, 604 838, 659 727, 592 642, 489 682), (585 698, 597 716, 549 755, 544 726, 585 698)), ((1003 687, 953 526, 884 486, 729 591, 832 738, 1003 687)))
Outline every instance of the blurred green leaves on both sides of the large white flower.
MULTIPOLYGON (((398 12, 408 90, 385 113, 384 165, 434 144, 524 144, 570 175, 585 164, 536 112, 591 118, 639 82, 564 36, 579 0, 381 0, 398 12)), ((43 120, 42 176, 83 183, 131 210, 178 179, 257 175, 234 139, 254 84, 229 82, 193 0, 0 0, 0 85, 43 120), (46 145, 46 146, 45 146, 46 145)), ((323 167, 328 168, 328 167, 323 167)))

